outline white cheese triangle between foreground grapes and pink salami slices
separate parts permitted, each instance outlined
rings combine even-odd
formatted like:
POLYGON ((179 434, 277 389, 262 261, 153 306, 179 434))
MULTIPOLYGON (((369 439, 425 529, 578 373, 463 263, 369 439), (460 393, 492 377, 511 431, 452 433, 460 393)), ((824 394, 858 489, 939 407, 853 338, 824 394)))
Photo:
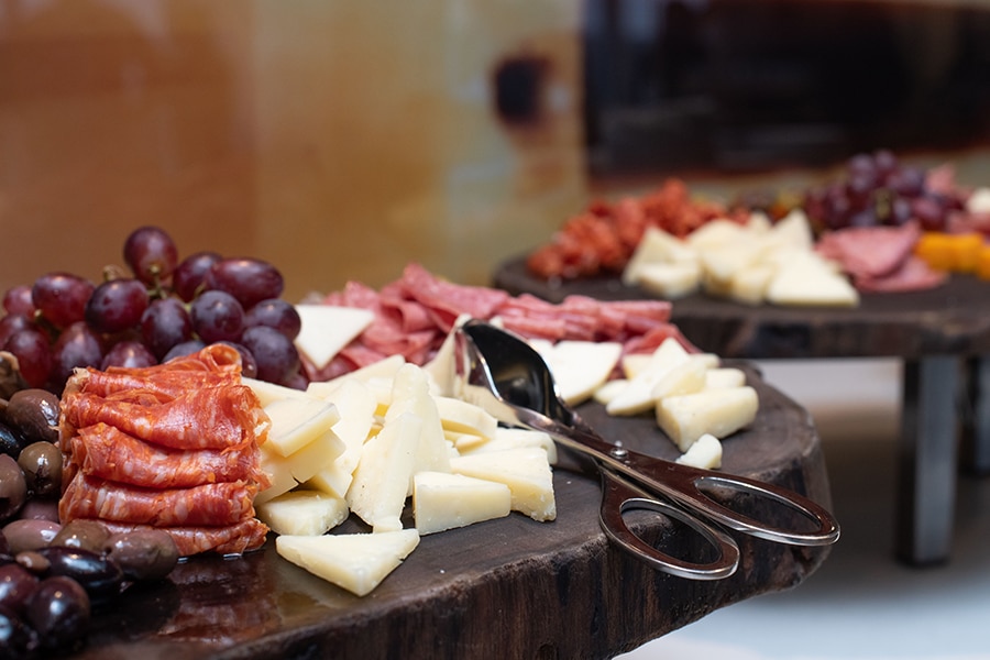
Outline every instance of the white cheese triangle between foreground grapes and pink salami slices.
POLYGON ((296 349, 317 369, 327 366, 375 320, 373 311, 356 307, 296 305, 296 311, 302 321, 296 349))

